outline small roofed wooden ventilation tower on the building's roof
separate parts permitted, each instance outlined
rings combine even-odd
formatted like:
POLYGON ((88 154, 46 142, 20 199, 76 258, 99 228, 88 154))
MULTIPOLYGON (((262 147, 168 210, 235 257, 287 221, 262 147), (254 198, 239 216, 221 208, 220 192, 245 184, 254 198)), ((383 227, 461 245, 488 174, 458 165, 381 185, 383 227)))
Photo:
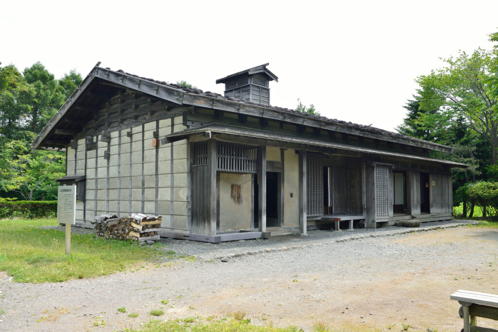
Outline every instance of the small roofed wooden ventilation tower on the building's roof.
POLYGON ((235 97, 242 101, 270 105, 269 82, 278 82, 278 77, 266 69, 264 64, 216 80, 216 84, 225 83, 225 97, 235 97))

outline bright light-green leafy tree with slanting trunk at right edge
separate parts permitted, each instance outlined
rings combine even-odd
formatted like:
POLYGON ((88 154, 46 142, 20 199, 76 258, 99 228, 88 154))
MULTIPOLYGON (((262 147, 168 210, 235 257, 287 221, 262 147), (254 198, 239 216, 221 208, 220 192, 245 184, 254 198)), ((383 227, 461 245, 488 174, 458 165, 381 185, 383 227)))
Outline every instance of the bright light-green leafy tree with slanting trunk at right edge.
MULTIPOLYGON (((498 95, 494 91, 496 81, 493 51, 476 50, 468 55, 460 52, 457 58, 444 61, 447 67, 420 76, 420 122, 431 125, 434 119, 456 121, 477 133, 491 148, 489 164, 498 161, 498 95), (430 111, 437 110, 435 113, 430 111), (428 115, 426 115, 428 114, 428 115), (425 119, 424 119, 425 117, 425 119)), ((433 128, 445 128, 438 124, 433 128)))

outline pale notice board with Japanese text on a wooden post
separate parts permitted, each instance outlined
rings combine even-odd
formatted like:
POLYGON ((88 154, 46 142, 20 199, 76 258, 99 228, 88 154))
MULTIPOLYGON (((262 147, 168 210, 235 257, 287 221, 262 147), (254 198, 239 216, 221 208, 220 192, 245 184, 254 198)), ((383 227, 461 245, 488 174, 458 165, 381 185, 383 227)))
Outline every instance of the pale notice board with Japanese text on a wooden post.
POLYGON ((66 224, 66 254, 71 251, 71 224, 76 220, 76 186, 60 185, 57 191, 57 223, 66 224))

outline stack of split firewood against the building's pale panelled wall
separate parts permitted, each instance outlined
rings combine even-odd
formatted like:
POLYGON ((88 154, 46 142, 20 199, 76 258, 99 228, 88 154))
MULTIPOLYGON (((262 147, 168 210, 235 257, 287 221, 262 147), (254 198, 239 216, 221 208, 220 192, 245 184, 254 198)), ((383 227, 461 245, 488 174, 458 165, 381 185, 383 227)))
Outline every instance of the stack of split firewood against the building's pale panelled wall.
POLYGON ((132 213, 129 217, 103 214, 92 222, 98 236, 106 239, 134 240, 140 244, 153 244, 159 240, 161 216, 132 213))

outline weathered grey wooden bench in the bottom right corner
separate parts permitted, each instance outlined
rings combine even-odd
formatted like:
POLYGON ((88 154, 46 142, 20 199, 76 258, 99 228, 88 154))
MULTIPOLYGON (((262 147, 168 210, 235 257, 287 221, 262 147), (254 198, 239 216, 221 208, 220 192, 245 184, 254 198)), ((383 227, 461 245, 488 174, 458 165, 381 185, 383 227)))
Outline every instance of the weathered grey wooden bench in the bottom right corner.
POLYGON ((457 300, 462 306, 458 313, 464 319, 464 332, 498 332, 495 329, 477 326, 477 317, 498 321, 498 295, 458 290, 450 299, 457 300))

